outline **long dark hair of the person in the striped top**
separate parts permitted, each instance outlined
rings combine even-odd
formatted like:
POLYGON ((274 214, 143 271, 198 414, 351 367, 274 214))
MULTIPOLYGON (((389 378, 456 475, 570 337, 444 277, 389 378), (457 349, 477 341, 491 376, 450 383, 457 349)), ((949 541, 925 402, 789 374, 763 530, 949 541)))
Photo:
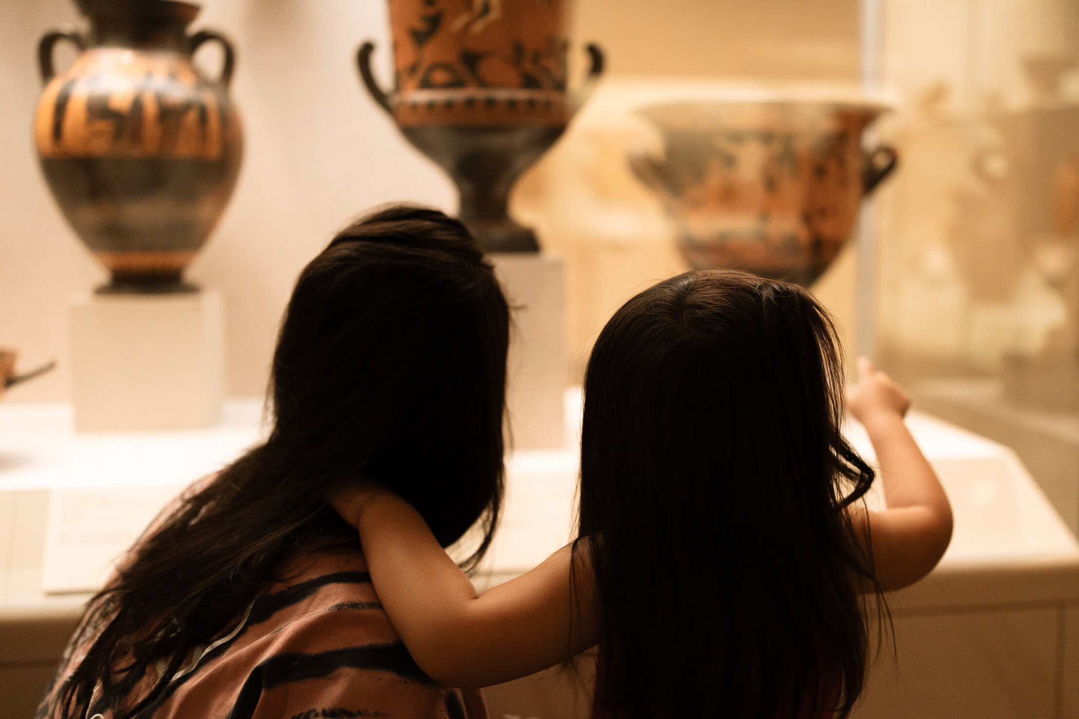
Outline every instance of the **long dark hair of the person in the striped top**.
POLYGON ((324 498, 359 473, 411 502, 443 545, 483 517, 474 566, 502 506, 508 322, 459 221, 393 207, 341 232, 289 301, 269 439, 185 498, 92 600, 81 631, 100 634, 59 716, 81 719, 95 686, 121 719, 149 706, 284 556, 341 528, 324 498), (158 662, 153 690, 120 706, 158 662))

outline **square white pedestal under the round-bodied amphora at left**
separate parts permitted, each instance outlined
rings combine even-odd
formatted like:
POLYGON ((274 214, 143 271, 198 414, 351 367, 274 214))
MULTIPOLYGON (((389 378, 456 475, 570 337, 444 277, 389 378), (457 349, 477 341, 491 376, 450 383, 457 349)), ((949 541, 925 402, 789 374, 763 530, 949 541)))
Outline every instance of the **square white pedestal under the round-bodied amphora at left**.
POLYGON ((193 429, 221 413, 221 293, 78 294, 68 301, 80 432, 193 429))

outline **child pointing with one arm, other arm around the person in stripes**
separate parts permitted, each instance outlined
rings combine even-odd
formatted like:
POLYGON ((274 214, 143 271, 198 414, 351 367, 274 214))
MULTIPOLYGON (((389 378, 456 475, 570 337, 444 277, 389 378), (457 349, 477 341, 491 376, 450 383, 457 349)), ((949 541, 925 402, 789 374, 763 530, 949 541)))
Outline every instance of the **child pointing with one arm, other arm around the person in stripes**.
POLYGON ((482 687, 598 645, 595 716, 846 717, 869 607, 946 549, 948 501, 868 361, 841 433, 835 329, 794 285, 694 272, 627 302, 585 379, 578 539, 477 598, 407 498, 359 480, 334 507, 359 529, 394 626, 429 676, 482 687), (876 599, 874 600, 874 595, 876 599))

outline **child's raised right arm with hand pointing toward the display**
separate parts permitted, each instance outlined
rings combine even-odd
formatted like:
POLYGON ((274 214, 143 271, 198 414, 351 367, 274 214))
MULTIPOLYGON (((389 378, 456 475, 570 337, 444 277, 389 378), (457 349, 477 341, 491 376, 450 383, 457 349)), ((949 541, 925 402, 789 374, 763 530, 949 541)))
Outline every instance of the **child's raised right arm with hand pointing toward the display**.
POLYGON ((865 358, 847 406, 870 435, 880 467, 888 509, 855 511, 859 536, 869 537, 877 581, 898 590, 937 566, 952 539, 952 507, 937 473, 903 424, 910 399, 865 358))

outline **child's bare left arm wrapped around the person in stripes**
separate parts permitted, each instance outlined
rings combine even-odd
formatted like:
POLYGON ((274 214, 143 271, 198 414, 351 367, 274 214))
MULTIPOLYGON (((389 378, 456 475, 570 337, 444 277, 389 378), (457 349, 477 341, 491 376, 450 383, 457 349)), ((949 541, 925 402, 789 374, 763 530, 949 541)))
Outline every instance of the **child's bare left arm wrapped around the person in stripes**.
POLYGON ((359 530, 371 582, 409 653, 450 687, 488 687, 565 661, 596 644, 595 578, 578 551, 571 605, 570 547, 477 596, 408 502, 374 483, 333 507, 359 530))

